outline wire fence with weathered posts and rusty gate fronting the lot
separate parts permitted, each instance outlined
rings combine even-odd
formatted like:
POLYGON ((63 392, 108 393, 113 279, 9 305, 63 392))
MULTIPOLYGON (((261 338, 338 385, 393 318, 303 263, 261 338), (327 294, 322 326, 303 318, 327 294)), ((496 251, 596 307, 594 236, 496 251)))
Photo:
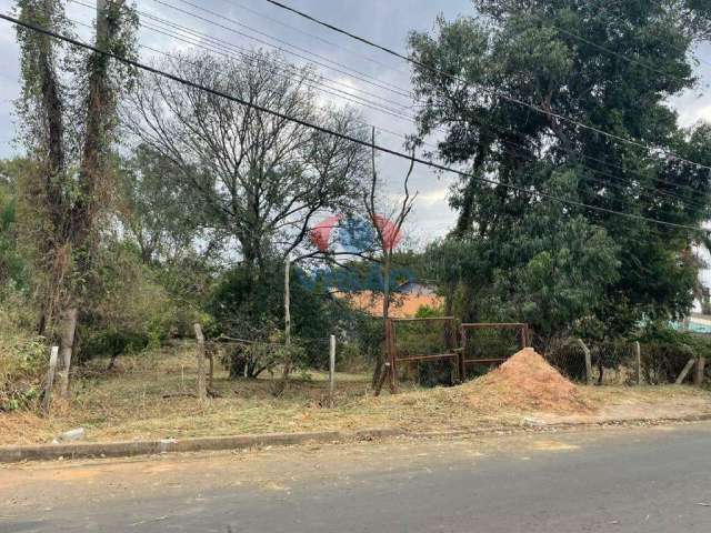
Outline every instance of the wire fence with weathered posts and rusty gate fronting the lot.
MULTIPOLYGON (((387 346, 373 335, 375 350, 387 355, 387 346)), ((375 331, 377 328, 373 328, 375 331)), ((533 343, 537 343, 533 339, 533 343)), ((518 352, 523 344, 521 330, 515 328, 460 329, 455 321, 395 321, 397 379, 405 388, 450 385, 481 375, 518 352), (440 358, 440 355, 452 355, 440 358), (432 358, 428 360, 427 358, 432 358), (408 361, 410 360, 410 361, 408 361), (474 361, 461 373, 458 362, 474 361), (492 361, 477 363, 477 361, 492 361)), ((361 340, 343 334, 336 339, 334 362, 339 375, 337 396, 363 395, 373 391, 373 359, 364 355, 361 340)), ((283 338, 250 340, 229 336, 207 339, 202 371, 207 391, 213 398, 251 398, 269 394, 271 386, 282 379, 287 352, 294 362, 291 373, 294 398, 299 394, 323 403, 329 394, 331 339, 291 339, 290 348, 283 338)), ((592 385, 670 384, 684 375, 685 382, 698 382, 698 361, 701 355, 693 346, 633 341, 593 342, 591 340, 561 339, 549 341, 539 349, 547 361, 577 383, 592 385), (693 362, 690 366, 690 362, 693 362), (685 372, 685 374, 684 374, 685 372)), ((107 360, 97 360, 79 366, 82 388, 81 401, 101 403, 102 394, 112 395, 113 386, 121 386, 121 398, 150 410, 151 401, 160 409, 164 399, 199 396, 198 342, 194 339, 177 341, 160 350, 133 356, 122 356, 116 369, 107 372, 107 360), (121 373, 116 385, 110 383, 112 372, 121 373), (92 388, 96 393, 90 392, 92 388), (110 393, 110 394, 109 394, 110 393), (148 406, 147 406, 148 405, 148 406)), ((707 379, 711 378, 709 369, 707 379)), ((288 394, 290 394, 289 392, 288 394)), ((260 396, 261 398, 261 396, 260 396)), ((343 398, 343 396, 341 396, 343 398)), ((130 409, 127 405, 127 409, 130 409)))

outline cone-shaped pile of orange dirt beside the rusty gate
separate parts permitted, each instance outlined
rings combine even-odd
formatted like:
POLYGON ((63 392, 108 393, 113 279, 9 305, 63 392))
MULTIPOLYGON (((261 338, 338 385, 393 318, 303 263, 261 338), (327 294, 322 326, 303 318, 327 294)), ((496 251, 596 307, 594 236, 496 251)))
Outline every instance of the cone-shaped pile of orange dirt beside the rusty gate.
POLYGON ((592 410, 580 390, 530 348, 462 389, 472 404, 555 413, 592 410))

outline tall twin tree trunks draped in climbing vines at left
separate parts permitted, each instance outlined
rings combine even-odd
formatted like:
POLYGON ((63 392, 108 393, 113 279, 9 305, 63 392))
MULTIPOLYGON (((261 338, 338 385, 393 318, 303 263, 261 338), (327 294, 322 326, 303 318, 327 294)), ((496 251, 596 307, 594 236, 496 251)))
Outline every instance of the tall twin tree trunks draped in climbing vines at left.
MULTIPOLYGON (((58 0, 19 0, 19 17, 69 33, 58 0)), ((98 0, 96 46, 122 57, 134 52, 138 20, 123 0, 98 0)), ((120 61, 67 48, 53 38, 18 28, 22 92, 18 112, 36 175, 24 200, 36 210, 38 272, 43 272, 40 332, 59 333, 68 388, 74 332, 91 279, 92 254, 106 193, 109 157, 117 132, 117 104, 131 78, 120 61), (58 324, 60 322, 60 324, 58 324)))

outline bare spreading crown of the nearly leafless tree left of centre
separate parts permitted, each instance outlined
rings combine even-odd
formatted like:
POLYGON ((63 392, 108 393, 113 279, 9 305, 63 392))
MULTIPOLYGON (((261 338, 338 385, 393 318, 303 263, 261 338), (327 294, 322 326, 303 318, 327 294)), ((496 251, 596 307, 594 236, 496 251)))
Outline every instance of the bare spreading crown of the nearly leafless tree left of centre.
MULTIPOLYGON (((280 63, 262 52, 203 53, 159 67, 292 119, 354 128, 352 111, 317 105, 311 71, 280 76, 280 63)), ((232 237, 256 275, 297 249, 318 213, 352 203, 365 168, 359 145, 154 76, 141 79, 126 115, 137 139, 172 163, 168 177, 201 203, 203 224, 232 237)))

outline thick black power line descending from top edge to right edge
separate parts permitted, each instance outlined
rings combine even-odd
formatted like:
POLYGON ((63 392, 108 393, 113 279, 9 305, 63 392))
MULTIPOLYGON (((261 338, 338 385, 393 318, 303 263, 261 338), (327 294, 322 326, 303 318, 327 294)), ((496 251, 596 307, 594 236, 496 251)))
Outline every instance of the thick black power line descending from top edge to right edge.
MULTIPOLYGON (((395 51, 395 50, 393 50, 391 48, 383 47, 382 44, 378 44, 378 43, 375 43, 375 42, 373 42, 373 41, 371 41, 369 39, 365 39, 363 37, 360 37, 360 36, 357 36, 354 33, 351 33, 350 31, 343 30, 342 28, 333 26, 333 24, 331 24, 329 22, 326 22, 323 20, 317 19, 316 17, 313 17, 313 16, 311 16, 309 13, 300 11, 300 10, 298 10, 296 8, 292 8, 290 6, 287 6, 284 3, 282 3, 282 2, 279 2, 277 0, 266 0, 266 1, 271 3, 271 4, 273 4, 273 6, 276 6, 276 7, 278 7, 278 8, 280 8, 280 9, 284 9, 287 11, 291 11, 292 13, 298 14, 299 17, 302 17, 302 18, 304 18, 307 20, 310 20, 311 22, 313 22, 316 24, 322 26, 324 28, 328 28, 329 30, 336 31, 336 32, 341 33, 343 36, 347 36, 347 37, 349 37, 351 39, 360 41, 360 42, 362 42, 364 44, 368 44, 369 47, 377 48, 377 49, 379 49, 379 50, 381 50, 381 51, 383 51, 385 53, 389 53, 389 54, 394 56, 397 58, 400 58, 400 59, 402 59, 404 61, 408 61, 409 63, 412 63, 412 64, 414 64, 414 66, 417 66, 417 67, 419 67, 421 69, 424 69, 424 70, 427 70, 429 72, 435 73, 438 76, 443 76, 443 77, 450 78, 450 79, 452 79, 454 81, 458 81, 460 83, 464 83, 465 86, 470 86, 471 84, 469 81, 464 80, 463 78, 461 78, 461 77, 459 77, 457 74, 450 74, 449 72, 444 72, 444 71, 442 71, 440 69, 437 69, 434 67, 430 67, 429 64, 425 64, 422 61, 419 61, 417 59, 410 58, 410 57, 408 57, 408 56, 405 56, 405 54, 403 54, 401 52, 398 52, 398 51, 395 51)), ((489 92, 489 93, 491 93, 491 94, 493 94, 495 97, 502 98, 502 99, 508 100, 510 102, 513 102, 513 103, 517 103, 519 105, 523 105, 523 107, 530 108, 533 111, 537 111, 537 112, 539 112, 541 114, 544 114, 547 117, 551 117, 551 118, 554 118, 554 119, 558 119, 558 120, 563 120, 563 121, 569 122, 571 124, 578 125, 579 128, 584 128, 584 129, 587 129, 589 131, 592 131, 594 133, 598 133, 600 135, 604 135, 604 137, 607 137, 609 139, 613 139, 613 140, 619 141, 619 142, 625 142, 625 143, 628 143, 630 145, 642 148, 647 152, 650 152, 650 151, 653 151, 653 150, 658 150, 658 151, 664 153, 664 155, 667 155, 670 159, 674 159, 677 161, 681 161, 681 162, 684 162, 684 163, 693 164, 695 167, 699 167, 699 168, 702 168, 702 169, 705 169, 705 170, 711 170, 711 167, 708 167, 705 164, 701 164, 701 163, 698 163, 695 161, 691 161, 689 159, 682 158, 681 155, 678 155, 678 154, 673 153, 670 150, 667 150, 667 149, 663 149, 663 148, 650 147, 649 144, 644 144, 643 142, 635 141, 633 139, 629 139, 629 138, 625 138, 625 137, 621 137, 621 135, 618 135, 615 133, 610 133, 610 132, 604 131, 604 130, 602 130, 600 128, 597 128, 594 125, 590 125, 590 124, 587 124, 584 122, 581 122, 581 121, 579 121, 577 119, 571 119, 570 117, 565 117, 565 115, 562 115, 562 114, 559 114, 559 113, 554 113, 552 111, 547 111, 543 108, 541 108, 540 105, 523 101, 523 100, 521 100, 519 98, 515 98, 515 97, 511 97, 511 95, 504 94, 504 93, 502 93, 502 92, 500 92, 500 91, 498 91, 495 89, 489 89, 487 87, 480 87, 480 89, 482 91, 484 91, 484 92, 489 92)))

